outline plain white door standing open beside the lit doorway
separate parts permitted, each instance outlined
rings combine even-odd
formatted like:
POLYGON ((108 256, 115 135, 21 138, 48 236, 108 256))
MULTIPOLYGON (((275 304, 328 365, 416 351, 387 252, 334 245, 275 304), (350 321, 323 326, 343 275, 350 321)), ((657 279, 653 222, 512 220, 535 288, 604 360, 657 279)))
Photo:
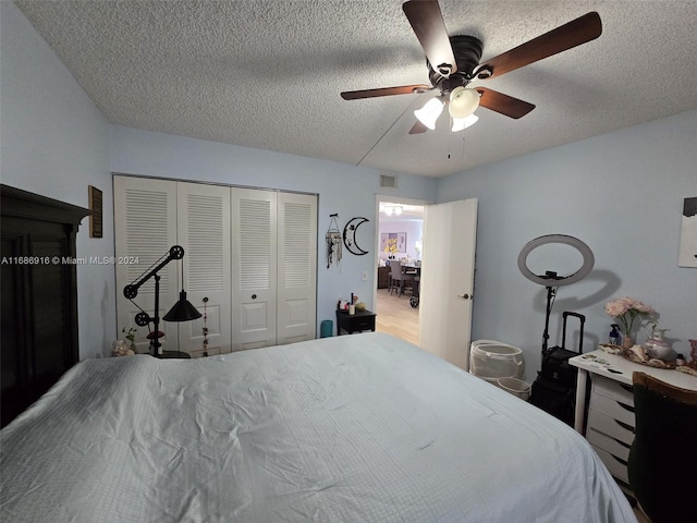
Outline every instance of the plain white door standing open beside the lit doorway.
POLYGON ((477 236, 476 198, 428 205, 419 299, 421 349, 467 370, 477 236))

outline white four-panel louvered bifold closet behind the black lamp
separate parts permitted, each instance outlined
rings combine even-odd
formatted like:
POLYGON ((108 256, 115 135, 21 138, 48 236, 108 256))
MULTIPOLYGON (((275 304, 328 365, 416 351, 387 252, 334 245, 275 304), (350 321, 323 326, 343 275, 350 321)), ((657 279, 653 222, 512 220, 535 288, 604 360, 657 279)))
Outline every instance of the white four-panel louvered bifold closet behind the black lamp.
MULTIPOLYGON (((163 348, 209 355, 316 336, 317 196, 280 191, 114 175, 117 287, 133 282, 169 252, 181 262, 160 272, 160 317, 184 289, 204 317, 160 323, 163 348)), ((119 330, 152 315, 155 285, 129 301, 119 292, 119 330)), ((138 327, 147 352, 147 327, 138 327)))

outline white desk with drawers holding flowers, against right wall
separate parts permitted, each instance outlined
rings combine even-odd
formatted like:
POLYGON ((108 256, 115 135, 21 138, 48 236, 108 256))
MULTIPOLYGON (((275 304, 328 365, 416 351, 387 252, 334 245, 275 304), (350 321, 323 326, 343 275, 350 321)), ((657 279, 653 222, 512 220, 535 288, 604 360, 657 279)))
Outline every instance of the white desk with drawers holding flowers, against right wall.
POLYGON ((646 373, 667 384, 689 390, 697 390, 697 377, 677 370, 639 365, 600 350, 572 357, 568 363, 578 367, 574 426, 584 434, 586 384, 590 374, 586 439, 608 471, 628 486, 627 459, 635 427, 632 374, 646 373))

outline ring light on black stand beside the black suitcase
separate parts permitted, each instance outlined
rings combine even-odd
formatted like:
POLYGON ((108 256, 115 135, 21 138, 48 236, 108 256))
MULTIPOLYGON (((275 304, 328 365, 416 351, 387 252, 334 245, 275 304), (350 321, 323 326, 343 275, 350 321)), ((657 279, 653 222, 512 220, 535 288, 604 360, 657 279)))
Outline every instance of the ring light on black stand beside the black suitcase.
POLYGON ((518 254, 518 269, 528 280, 539 284, 545 285, 547 288, 547 307, 545 312, 545 333, 542 335, 542 355, 547 353, 548 350, 548 341, 549 341, 549 317, 552 313, 552 304, 554 299, 557 297, 557 289, 562 285, 571 285, 572 283, 576 283, 577 281, 583 280, 588 273, 592 270, 592 266, 596 263, 596 258, 592 255, 592 251, 590 247, 586 245, 584 242, 574 236, 567 236, 564 234, 548 234, 546 236, 539 236, 535 240, 530 240, 525 244, 521 254, 518 254), (580 253, 584 258, 584 262, 580 268, 570 276, 559 276, 557 272, 548 270, 542 276, 535 275, 527 267, 527 257, 529 254, 541 245, 547 245, 549 243, 561 243, 564 245, 570 245, 574 247, 576 251, 580 253), (554 285, 551 285, 550 282, 554 282, 554 285))

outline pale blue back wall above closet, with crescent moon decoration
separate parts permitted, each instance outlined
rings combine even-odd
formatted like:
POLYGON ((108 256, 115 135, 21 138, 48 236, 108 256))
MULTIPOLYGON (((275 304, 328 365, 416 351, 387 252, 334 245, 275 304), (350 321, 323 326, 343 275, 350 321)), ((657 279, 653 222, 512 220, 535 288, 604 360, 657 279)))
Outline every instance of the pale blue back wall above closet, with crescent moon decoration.
MULTIPOLYGON (((347 300, 352 292, 372 308, 371 277, 378 264, 372 245, 378 230, 375 195, 380 192, 379 171, 118 125, 111 127, 109 157, 112 172, 318 194, 318 325, 322 319, 334 318, 337 301, 347 300), (334 212, 339 214, 341 228, 354 217, 370 220, 358 229, 356 238, 358 245, 370 252, 355 256, 344 248, 340 266, 328 269, 325 234, 329 215, 334 212), (362 279, 364 271, 370 275, 366 281, 362 279)), ((400 174, 399 191, 393 194, 433 200, 436 182, 400 174)))

